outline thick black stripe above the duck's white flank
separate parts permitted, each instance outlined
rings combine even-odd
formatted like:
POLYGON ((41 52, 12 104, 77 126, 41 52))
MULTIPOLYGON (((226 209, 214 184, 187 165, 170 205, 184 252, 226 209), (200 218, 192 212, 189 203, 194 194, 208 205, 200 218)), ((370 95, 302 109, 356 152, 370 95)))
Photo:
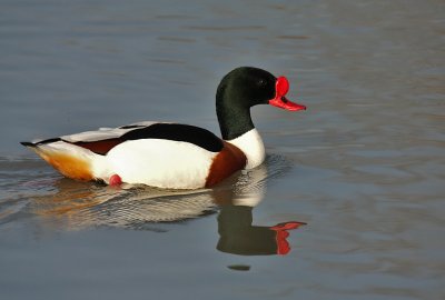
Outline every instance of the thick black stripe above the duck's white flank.
POLYGON ((221 151, 222 140, 210 131, 188 124, 155 123, 131 130, 120 137, 122 140, 164 139, 194 143, 211 152, 221 151))

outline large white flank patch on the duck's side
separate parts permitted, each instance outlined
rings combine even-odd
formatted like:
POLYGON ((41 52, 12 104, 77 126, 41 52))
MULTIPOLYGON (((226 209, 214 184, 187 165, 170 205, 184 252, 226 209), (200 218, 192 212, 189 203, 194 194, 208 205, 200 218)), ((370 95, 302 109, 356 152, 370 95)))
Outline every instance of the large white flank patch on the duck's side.
POLYGON ((106 168, 123 182, 171 189, 197 189, 206 184, 217 152, 188 142, 146 139, 122 142, 106 156, 106 168))

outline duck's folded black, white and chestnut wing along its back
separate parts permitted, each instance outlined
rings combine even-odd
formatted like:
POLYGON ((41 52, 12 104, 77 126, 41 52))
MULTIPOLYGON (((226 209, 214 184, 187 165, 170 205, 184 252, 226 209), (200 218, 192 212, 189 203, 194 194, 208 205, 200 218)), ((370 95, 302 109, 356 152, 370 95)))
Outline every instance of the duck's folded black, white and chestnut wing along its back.
POLYGON ((211 152, 219 152, 224 148, 222 140, 206 129, 164 122, 139 122, 118 128, 100 128, 95 131, 85 131, 59 138, 22 142, 22 144, 37 147, 39 144, 65 141, 105 156, 112 148, 125 141, 140 139, 166 139, 189 142, 211 152))

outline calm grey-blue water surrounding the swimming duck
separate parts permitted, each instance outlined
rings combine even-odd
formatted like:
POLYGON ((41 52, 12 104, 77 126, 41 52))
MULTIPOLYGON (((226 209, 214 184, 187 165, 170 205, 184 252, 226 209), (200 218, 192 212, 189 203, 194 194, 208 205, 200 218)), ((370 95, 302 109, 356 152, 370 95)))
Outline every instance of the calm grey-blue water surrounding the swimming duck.
POLYGON ((443 1, 0 8, 2 299, 445 298, 443 1), (216 190, 73 182, 18 143, 140 120, 218 132, 238 66, 287 76, 308 110, 255 108, 268 160, 216 190))

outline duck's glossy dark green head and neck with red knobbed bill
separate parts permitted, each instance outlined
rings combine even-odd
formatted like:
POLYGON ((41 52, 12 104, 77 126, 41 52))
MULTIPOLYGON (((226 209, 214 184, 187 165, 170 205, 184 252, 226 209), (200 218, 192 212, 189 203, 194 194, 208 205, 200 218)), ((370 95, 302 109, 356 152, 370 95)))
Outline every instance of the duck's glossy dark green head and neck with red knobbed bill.
POLYGON ((234 139, 254 128, 250 108, 270 104, 281 109, 306 110, 305 106, 286 98, 289 81, 286 77, 276 78, 268 71, 240 67, 226 74, 218 86, 216 109, 222 138, 234 139))

